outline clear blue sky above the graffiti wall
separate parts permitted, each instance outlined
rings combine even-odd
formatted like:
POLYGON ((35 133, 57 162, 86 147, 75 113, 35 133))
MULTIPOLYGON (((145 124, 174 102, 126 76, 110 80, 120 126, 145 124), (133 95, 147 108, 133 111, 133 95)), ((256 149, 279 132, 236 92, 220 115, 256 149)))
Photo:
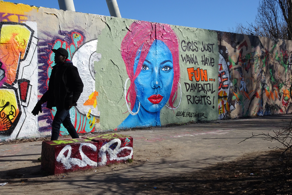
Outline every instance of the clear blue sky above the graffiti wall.
MULTIPOLYGON (((58 0, 11 0, 59 9, 58 0)), ((117 0, 122 18, 229 31, 254 21, 259 0, 117 0)), ((76 11, 109 15, 106 0, 74 0, 76 11)))

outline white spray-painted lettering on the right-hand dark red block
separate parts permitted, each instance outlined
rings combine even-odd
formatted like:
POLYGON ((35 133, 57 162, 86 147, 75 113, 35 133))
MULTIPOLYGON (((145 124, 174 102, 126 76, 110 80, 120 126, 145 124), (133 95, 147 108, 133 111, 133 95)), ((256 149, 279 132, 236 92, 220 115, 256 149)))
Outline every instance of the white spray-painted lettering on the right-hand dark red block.
POLYGON ((106 152, 109 154, 109 160, 112 161, 112 160, 117 160, 117 161, 121 161, 121 160, 127 160, 127 159, 130 159, 132 158, 133 156, 133 148, 132 147, 123 147, 123 148, 120 148, 121 146, 121 140, 120 139, 113 139, 112 141, 106 143, 105 145, 103 145, 99 152, 98 152, 98 157, 101 158, 101 161, 98 162, 98 166, 104 166, 107 162, 107 154, 106 152), (112 144, 118 142, 118 145, 117 147, 112 150, 109 146, 111 146, 112 144), (128 156, 124 156, 124 157, 117 157, 117 155, 124 149, 128 149, 128 150, 131 150, 131 153, 128 155, 128 156))

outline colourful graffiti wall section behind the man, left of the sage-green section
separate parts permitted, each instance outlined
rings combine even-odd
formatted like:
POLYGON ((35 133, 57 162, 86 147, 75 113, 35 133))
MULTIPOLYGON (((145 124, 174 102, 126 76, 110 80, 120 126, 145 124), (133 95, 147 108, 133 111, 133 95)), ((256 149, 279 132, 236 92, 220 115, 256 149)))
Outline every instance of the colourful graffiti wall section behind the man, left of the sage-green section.
MULTIPOLYGON (((0 139, 41 137, 51 134, 56 113, 42 106, 32 109, 48 90, 54 63, 51 49, 65 48, 84 83, 78 106, 70 110, 79 133, 93 132, 99 122, 96 105, 94 61, 98 34, 105 27, 102 17, 24 4, 0 2, 0 139)), ((61 125, 60 134, 68 134, 61 125)))

